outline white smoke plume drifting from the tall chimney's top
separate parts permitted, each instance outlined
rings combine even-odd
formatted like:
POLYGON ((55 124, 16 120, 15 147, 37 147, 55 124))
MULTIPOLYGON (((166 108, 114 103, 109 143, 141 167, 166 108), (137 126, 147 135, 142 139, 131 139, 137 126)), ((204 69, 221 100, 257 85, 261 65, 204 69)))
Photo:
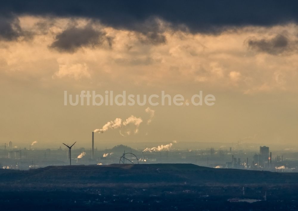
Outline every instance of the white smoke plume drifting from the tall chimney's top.
MULTIPOLYGON (((108 129, 117 129, 117 128, 124 128, 124 127, 127 128, 129 125, 134 125, 135 126, 134 133, 136 134, 139 132, 139 126, 142 122, 143 122, 142 118, 140 117, 136 118, 134 115, 131 115, 125 121, 122 121, 122 119, 120 118, 116 118, 114 121, 109 121, 107 124, 105 124, 102 129, 95 129, 94 132, 103 133, 108 129)), ((130 135, 131 134, 130 129, 128 129, 125 133, 127 135, 130 135)), ((120 134, 122 135, 121 132, 120 134)))

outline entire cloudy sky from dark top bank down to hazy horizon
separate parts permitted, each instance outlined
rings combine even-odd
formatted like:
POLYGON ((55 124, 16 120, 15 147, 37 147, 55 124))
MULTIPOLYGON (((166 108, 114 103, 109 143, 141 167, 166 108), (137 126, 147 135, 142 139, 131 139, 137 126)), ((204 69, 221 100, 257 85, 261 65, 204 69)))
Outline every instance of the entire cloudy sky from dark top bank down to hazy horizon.
POLYGON ((0 142, 88 146, 91 132, 106 128, 97 143, 295 144, 297 8, 296 1, 3 1, 0 142), (164 91, 185 102, 202 91, 216 101, 64 105, 64 91, 82 90, 164 91))

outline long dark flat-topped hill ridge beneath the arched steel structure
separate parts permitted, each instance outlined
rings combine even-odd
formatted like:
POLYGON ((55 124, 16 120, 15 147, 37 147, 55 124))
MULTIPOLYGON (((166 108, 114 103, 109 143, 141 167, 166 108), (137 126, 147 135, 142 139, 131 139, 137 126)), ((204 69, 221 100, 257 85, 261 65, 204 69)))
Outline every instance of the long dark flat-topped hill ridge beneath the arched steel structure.
POLYGON ((0 170, 1 182, 298 184, 298 173, 215 169, 194 164, 111 164, 48 166, 29 171, 0 170))

